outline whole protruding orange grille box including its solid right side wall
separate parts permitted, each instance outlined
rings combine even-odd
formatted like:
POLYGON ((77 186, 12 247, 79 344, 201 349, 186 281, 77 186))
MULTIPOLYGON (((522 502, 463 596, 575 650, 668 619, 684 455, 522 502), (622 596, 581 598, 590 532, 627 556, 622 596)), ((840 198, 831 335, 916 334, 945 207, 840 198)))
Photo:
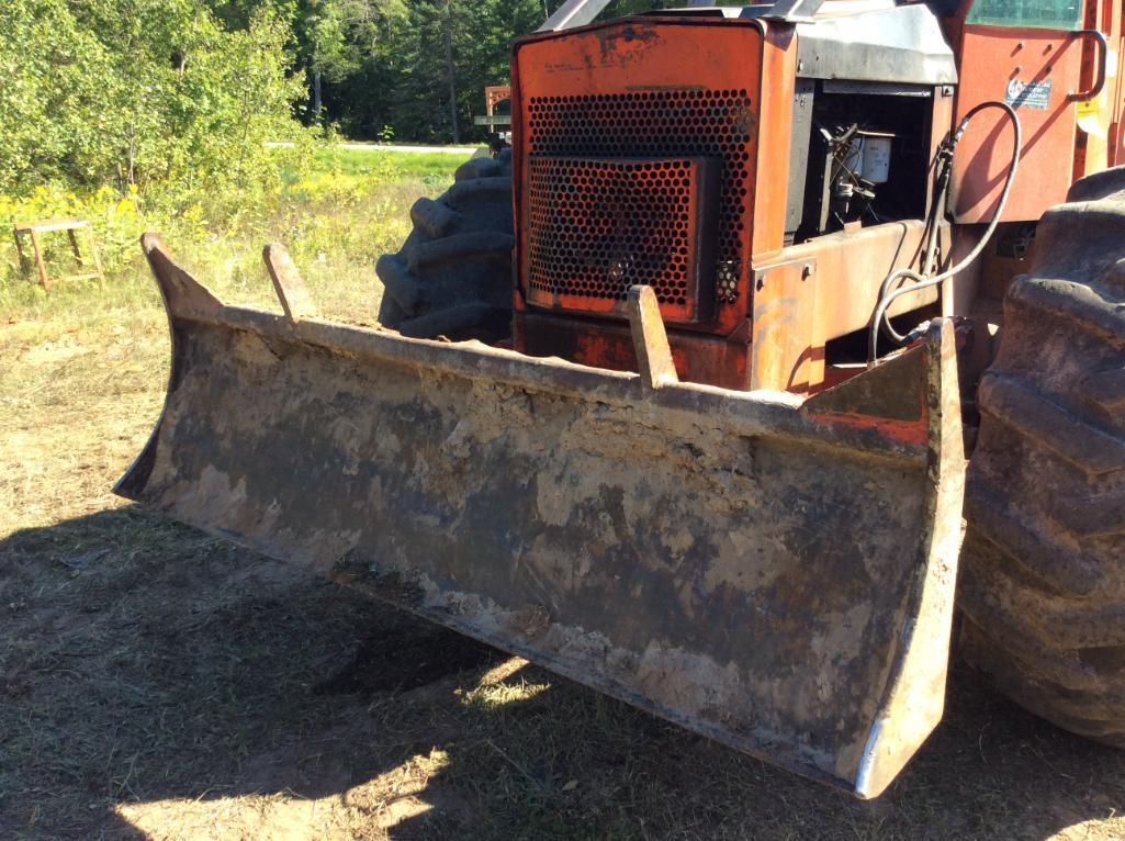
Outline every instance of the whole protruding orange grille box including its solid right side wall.
POLYGON ((645 285, 665 321, 708 320, 717 164, 687 155, 531 158, 522 190, 528 303, 622 316, 630 286, 645 285))

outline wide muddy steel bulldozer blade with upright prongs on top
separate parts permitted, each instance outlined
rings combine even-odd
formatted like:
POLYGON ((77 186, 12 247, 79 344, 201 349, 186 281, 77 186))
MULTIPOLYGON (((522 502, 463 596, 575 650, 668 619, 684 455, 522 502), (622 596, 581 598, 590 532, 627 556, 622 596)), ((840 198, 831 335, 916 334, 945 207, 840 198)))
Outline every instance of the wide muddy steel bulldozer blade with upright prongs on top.
POLYGON ((350 580, 867 798, 942 715, 964 455, 954 337, 816 396, 232 306, 143 239, 172 333, 117 493, 350 580))

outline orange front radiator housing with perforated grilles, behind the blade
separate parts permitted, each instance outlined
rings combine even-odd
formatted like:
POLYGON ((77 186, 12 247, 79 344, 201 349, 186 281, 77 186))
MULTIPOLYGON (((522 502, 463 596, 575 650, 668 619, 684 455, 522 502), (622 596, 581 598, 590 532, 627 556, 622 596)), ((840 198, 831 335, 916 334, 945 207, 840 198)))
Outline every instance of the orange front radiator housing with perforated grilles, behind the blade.
POLYGON ((782 247, 793 61, 753 20, 633 18, 516 46, 521 350, 634 366, 624 303, 647 283, 677 367, 748 387, 738 330, 753 254, 782 247))

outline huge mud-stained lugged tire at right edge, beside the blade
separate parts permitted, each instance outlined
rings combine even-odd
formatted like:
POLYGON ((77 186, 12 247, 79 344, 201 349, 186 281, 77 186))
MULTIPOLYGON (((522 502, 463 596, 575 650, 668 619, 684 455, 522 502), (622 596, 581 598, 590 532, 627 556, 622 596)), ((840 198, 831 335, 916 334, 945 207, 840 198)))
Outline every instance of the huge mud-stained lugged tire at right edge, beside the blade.
POLYGON ((1044 214, 981 379, 962 651, 1054 724, 1125 748, 1125 168, 1044 214))

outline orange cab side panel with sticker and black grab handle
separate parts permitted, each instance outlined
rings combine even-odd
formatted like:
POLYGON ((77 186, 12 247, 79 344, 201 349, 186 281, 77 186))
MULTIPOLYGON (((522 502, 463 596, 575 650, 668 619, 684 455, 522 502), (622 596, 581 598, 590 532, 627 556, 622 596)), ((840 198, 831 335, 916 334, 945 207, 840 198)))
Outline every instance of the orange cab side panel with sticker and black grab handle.
MULTIPOLYGON (((989 99, 1016 108, 1025 177, 1014 185, 1001 218, 1034 222, 1065 198, 1076 179, 1125 163, 1118 69, 1125 3, 1087 0, 1070 19, 1036 26, 999 25, 991 8, 964 2, 946 21, 960 71, 956 117, 989 99)), ((996 209, 1008 159, 1006 144, 996 142, 1002 120, 982 114, 958 144, 952 211, 960 223, 987 222, 996 209)))

